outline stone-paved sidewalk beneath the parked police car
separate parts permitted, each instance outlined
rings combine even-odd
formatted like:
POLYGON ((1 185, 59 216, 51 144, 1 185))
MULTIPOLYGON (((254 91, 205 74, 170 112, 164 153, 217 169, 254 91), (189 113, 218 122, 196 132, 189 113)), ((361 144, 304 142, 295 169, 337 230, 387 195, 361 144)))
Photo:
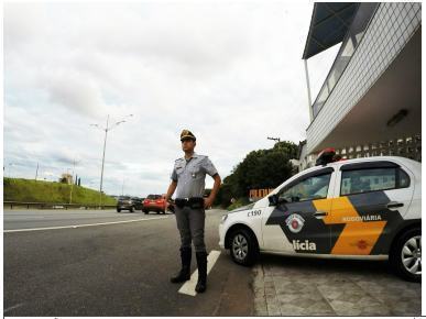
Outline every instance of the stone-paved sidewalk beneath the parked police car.
POLYGON ((420 316, 422 285, 386 262, 263 255, 253 267, 256 316, 420 316))

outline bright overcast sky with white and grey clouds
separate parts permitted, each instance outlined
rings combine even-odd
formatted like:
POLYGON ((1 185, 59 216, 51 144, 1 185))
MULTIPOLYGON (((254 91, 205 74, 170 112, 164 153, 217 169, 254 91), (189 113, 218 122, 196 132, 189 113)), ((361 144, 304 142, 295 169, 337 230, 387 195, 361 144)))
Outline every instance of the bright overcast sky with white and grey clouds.
MULTIPOLYGON (((4 4, 4 175, 163 194, 179 133, 222 177, 267 136, 309 124, 302 54, 313 2, 143 1, 4 4), (133 114, 133 117, 128 117, 133 114)), ((313 97, 338 47, 308 61, 313 97)), ((207 186, 211 179, 207 178, 207 186)))

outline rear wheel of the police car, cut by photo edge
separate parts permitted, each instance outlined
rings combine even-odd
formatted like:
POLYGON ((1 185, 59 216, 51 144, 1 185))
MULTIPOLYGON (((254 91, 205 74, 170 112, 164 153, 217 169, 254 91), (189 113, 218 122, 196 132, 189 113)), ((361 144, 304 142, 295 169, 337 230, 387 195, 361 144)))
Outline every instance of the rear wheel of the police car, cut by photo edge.
POLYGON ((422 230, 405 231, 394 242, 390 262, 394 272, 408 282, 422 282, 422 230))

